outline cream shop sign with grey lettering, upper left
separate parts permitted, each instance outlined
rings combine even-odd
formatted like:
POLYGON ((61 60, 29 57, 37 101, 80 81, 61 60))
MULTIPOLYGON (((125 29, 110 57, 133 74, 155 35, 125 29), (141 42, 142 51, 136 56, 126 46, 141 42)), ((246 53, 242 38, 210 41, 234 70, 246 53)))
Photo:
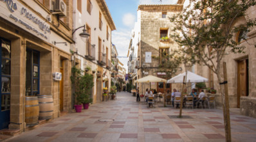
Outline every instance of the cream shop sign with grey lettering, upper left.
POLYGON ((50 41, 50 25, 16 0, 0 0, 0 17, 25 29, 29 33, 50 41))

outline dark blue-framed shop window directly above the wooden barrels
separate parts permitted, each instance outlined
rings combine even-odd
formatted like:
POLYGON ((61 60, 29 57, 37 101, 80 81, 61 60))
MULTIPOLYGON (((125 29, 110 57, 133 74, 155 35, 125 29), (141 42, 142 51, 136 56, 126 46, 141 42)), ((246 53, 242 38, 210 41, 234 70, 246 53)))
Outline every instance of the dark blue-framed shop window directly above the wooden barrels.
POLYGON ((39 94, 39 57, 38 51, 26 50, 26 95, 28 96, 39 94))

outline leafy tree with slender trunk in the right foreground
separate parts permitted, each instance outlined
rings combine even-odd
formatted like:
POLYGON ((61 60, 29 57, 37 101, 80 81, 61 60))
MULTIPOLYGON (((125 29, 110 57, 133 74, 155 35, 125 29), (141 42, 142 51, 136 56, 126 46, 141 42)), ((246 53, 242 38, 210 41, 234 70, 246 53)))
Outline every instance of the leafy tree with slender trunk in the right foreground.
MULTIPOLYGON (((245 48, 233 36, 238 31, 249 32, 256 24, 255 19, 247 19, 244 24, 234 26, 235 20, 246 17, 246 10, 255 4, 255 0, 190 1, 183 12, 170 18, 170 22, 175 25, 171 37, 194 63, 200 61, 217 75, 219 83, 224 83, 221 65, 225 52, 243 52, 245 48)), ((242 34, 242 38, 246 40, 246 34, 242 34)), ((226 141, 231 141, 230 122, 226 121, 229 120, 229 108, 224 103, 224 86, 219 86, 219 90, 223 102, 226 141)))

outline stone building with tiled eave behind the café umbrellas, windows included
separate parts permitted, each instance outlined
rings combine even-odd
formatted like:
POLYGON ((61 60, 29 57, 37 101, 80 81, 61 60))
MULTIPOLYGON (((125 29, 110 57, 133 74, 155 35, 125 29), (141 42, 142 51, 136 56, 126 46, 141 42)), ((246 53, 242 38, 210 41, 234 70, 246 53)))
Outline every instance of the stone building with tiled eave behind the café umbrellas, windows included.
MULTIPOLYGON (((160 56, 162 52, 172 52, 178 45, 169 38, 172 23, 168 19, 173 14, 181 12, 183 6, 181 4, 174 5, 139 5, 138 6, 138 23, 140 34, 138 41, 138 54, 134 57, 138 63, 138 79, 146 75, 155 75, 165 78, 163 72, 159 72, 160 56), (166 40, 163 40, 166 38, 166 40)), ((131 47, 136 46, 131 45, 131 47)), ((135 51, 136 52, 136 51, 135 51)), ((149 88, 149 83, 137 84, 140 87, 140 93, 145 93, 149 88)), ((163 92, 163 83, 152 83, 152 89, 163 92)), ((171 85, 167 84, 167 89, 171 90, 171 85)))

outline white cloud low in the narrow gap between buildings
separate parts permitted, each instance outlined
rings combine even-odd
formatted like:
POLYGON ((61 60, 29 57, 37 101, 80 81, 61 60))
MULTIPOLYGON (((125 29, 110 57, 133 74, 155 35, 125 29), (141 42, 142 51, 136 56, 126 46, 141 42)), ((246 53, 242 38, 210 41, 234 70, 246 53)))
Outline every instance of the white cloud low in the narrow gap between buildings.
MULTIPOLYGON (((131 31, 129 29, 120 29, 112 32, 112 43, 116 45, 118 56, 127 57, 129 43, 131 40, 131 31)), ((128 58, 119 58, 123 67, 127 70, 128 58)))

